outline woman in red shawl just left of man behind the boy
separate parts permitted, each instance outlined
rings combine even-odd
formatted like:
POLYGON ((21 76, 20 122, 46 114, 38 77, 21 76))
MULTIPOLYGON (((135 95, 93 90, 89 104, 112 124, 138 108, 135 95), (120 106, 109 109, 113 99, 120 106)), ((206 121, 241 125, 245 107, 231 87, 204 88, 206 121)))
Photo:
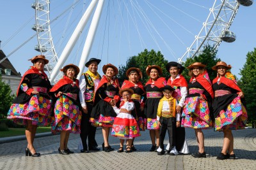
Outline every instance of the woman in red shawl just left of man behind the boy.
POLYGON ((160 77, 163 74, 161 67, 152 65, 148 66, 146 73, 150 79, 145 84, 145 91, 147 92, 147 100, 145 102, 144 113, 147 116, 147 129, 149 130, 152 147, 150 152, 157 152, 159 147, 159 126, 157 125, 157 108, 160 99, 163 96, 161 87, 166 85, 166 80, 160 77))

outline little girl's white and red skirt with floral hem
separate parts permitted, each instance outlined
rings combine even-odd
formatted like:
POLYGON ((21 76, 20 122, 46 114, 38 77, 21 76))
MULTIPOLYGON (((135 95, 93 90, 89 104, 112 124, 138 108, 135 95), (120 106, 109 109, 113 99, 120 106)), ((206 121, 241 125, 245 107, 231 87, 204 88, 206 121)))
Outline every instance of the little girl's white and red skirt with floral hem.
POLYGON ((131 114, 119 113, 113 123, 111 135, 120 139, 132 139, 140 136, 141 134, 140 128, 131 114))

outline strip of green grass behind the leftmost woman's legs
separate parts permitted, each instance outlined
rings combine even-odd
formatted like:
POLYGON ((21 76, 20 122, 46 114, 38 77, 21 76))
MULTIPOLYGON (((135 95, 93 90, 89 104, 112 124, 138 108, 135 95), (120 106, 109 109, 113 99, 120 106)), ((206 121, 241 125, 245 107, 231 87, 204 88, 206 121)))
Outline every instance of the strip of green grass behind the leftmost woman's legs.
MULTIPOLYGON (((0 138, 20 136, 25 134, 25 128, 8 128, 9 131, 1 131, 0 138)), ((51 126, 49 127, 38 127, 36 133, 51 132, 51 126)))

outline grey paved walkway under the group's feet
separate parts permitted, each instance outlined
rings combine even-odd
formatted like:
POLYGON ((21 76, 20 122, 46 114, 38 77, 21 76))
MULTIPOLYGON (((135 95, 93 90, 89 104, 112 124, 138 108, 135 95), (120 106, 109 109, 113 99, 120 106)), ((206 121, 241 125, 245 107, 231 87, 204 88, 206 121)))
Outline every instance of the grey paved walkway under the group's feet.
MULTIPOLYGON (((45 136, 35 139, 35 148, 41 157, 26 157, 26 140, 0 144, 0 169, 256 169, 256 129, 234 131, 236 160, 217 160, 221 151, 223 133, 204 130, 207 158, 195 159, 191 155, 157 155, 148 152, 151 147, 148 131, 141 132, 134 144, 137 152, 117 153, 119 141, 110 137, 113 152, 80 153, 77 150, 78 134, 70 134, 68 147, 75 153, 60 155, 60 136, 45 136)), ((186 138, 191 153, 198 150, 193 129, 186 129, 186 138)), ((97 130, 99 145, 103 142, 102 132, 97 130)), ((3 141, 3 138, 0 138, 3 141)), ((167 138, 166 138, 167 143, 167 138)), ((102 148, 101 148, 102 150, 102 148)))

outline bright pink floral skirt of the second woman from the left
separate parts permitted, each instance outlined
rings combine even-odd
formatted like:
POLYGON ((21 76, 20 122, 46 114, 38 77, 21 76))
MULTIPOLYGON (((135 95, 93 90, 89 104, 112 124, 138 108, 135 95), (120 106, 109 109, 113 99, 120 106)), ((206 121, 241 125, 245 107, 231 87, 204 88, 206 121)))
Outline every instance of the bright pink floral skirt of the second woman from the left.
POLYGON ((54 117, 52 118, 52 133, 69 131, 80 133, 82 113, 79 107, 67 96, 61 96, 54 105, 54 117))

